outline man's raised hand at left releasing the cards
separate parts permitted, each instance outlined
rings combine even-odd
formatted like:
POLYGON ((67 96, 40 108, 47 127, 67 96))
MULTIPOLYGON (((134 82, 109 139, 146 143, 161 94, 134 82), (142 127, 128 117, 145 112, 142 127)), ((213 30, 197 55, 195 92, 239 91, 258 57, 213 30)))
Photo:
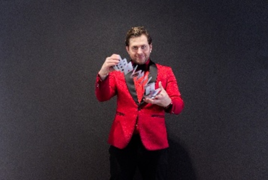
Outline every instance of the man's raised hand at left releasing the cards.
POLYGON ((101 70, 99 71, 99 76, 101 77, 101 80, 104 80, 109 72, 112 72, 114 70, 113 66, 119 63, 120 56, 118 54, 113 54, 110 57, 107 57, 101 67, 101 70))

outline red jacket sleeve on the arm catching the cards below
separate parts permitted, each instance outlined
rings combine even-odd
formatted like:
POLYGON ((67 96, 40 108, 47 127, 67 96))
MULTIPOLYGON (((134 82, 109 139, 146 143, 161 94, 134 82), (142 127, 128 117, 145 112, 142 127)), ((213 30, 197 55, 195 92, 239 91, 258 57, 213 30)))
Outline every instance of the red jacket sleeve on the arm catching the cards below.
POLYGON ((173 114, 179 114, 182 112, 184 108, 184 102, 181 97, 181 93, 178 88, 178 83, 176 81, 176 78, 173 74, 173 71, 171 68, 169 68, 169 75, 168 75, 168 81, 166 86, 166 92, 168 93, 169 97, 172 101, 172 106, 168 108, 166 112, 173 113, 173 114))

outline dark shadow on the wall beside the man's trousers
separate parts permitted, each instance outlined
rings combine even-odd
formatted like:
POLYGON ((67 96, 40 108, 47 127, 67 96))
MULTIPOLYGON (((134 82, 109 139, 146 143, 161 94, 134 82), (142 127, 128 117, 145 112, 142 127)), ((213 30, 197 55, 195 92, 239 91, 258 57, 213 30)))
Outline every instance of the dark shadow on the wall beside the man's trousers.
POLYGON ((196 172, 192 160, 183 142, 169 139, 169 172, 170 180, 196 180, 196 172))

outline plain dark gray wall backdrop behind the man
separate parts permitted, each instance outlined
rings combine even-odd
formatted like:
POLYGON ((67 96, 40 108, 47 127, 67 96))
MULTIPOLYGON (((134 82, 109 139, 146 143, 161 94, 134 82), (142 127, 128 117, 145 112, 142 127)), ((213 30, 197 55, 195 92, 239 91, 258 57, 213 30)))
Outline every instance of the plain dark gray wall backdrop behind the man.
MULTIPOLYGON (((104 59, 145 26, 185 109, 167 115, 169 179, 268 177, 267 1, 0 3, 0 179, 108 179, 104 59)), ((139 179, 137 174, 136 179, 139 179)))

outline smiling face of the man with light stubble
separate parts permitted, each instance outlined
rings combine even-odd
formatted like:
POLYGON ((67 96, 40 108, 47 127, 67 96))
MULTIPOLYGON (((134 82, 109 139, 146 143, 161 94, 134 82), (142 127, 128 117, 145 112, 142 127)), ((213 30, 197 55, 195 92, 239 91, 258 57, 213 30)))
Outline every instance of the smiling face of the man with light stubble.
POLYGON ((126 50, 134 63, 144 64, 150 57, 152 44, 149 45, 147 37, 142 34, 139 37, 130 38, 126 50))

